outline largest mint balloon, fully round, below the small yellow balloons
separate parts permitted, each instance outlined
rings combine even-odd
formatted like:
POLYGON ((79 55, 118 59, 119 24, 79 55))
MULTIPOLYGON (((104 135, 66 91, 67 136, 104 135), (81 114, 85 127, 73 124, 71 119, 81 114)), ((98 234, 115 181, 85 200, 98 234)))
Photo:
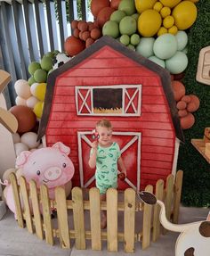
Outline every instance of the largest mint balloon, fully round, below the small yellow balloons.
POLYGON ((159 36, 154 45, 153 51, 159 59, 169 59, 177 51, 177 40, 172 34, 164 34, 159 36))

